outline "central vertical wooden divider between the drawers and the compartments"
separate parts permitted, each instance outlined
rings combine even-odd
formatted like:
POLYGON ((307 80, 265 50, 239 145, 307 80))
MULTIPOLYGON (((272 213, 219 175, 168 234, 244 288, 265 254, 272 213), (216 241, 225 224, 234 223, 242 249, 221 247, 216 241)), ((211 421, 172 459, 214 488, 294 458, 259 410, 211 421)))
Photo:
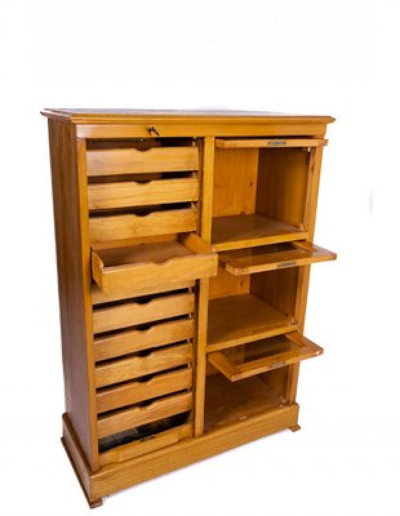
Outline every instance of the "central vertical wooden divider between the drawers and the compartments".
MULTIPOLYGON (((213 136, 204 138, 200 148, 200 185, 202 204, 200 208, 200 236, 211 244, 212 203, 214 186, 214 143, 213 136), (202 152, 201 152, 202 151, 202 152)), ((205 370, 207 346, 207 315, 209 303, 209 280, 199 280, 196 379, 195 379, 195 436, 201 436, 204 429, 205 370)))

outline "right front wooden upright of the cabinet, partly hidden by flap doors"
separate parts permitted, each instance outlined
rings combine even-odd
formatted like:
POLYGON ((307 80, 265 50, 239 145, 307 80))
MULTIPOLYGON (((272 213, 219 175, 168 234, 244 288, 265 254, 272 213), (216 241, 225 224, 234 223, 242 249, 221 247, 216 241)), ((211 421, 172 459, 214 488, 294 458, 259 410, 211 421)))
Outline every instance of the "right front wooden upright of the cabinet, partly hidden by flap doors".
MULTIPOLYGON (((305 206, 304 225, 308 232, 307 241, 312 243, 314 239, 315 218, 317 211, 319 178, 321 177, 323 147, 315 147, 310 150, 309 184, 305 206)), ((310 265, 299 267, 299 277, 296 296, 295 318, 299 323, 299 331, 303 333, 306 317, 308 287, 310 282, 310 265)), ((287 379, 286 399, 292 403, 296 401, 297 384, 299 378, 300 362, 289 366, 287 379)))

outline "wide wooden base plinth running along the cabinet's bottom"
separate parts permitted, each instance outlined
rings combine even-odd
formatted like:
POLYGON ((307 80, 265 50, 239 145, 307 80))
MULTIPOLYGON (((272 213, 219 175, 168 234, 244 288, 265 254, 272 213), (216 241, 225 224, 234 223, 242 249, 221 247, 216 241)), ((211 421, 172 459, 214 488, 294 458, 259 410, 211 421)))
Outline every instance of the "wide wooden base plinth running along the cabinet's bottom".
POLYGON ((135 459, 103 466, 91 472, 76 434, 63 414, 63 437, 61 442, 71 460, 76 476, 81 483, 90 507, 102 504, 102 498, 122 489, 137 485, 180 467, 212 457, 236 446, 260 439, 281 430, 299 429, 298 405, 277 407, 267 413, 248 417, 244 421, 210 430, 202 436, 188 438, 180 443, 153 451, 135 459))

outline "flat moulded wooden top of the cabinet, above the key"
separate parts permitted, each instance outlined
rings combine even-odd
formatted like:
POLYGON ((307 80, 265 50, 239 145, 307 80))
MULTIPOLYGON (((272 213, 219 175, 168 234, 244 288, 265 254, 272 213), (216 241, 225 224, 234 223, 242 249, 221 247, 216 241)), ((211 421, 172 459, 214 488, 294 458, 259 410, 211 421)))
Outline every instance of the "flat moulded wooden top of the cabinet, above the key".
POLYGON ((139 121, 207 121, 207 122, 274 122, 301 121, 330 123, 329 116, 292 115, 272 111, 241 111, 223 109, 174 110, 174 109, 44 109, 42 115, 49 118, 61 118, 73 123, 115 123, 139 121))

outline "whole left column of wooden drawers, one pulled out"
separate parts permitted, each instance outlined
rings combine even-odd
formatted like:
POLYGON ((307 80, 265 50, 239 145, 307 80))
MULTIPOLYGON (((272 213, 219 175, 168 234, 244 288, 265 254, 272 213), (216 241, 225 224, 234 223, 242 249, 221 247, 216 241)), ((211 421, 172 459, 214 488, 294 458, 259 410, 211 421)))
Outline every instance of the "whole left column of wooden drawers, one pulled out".
POLYGON ((218 258, 196 235, 194 142, 93 142, 86 157, 104 465, 192 433, 196 280, 214 276, 218 258))

